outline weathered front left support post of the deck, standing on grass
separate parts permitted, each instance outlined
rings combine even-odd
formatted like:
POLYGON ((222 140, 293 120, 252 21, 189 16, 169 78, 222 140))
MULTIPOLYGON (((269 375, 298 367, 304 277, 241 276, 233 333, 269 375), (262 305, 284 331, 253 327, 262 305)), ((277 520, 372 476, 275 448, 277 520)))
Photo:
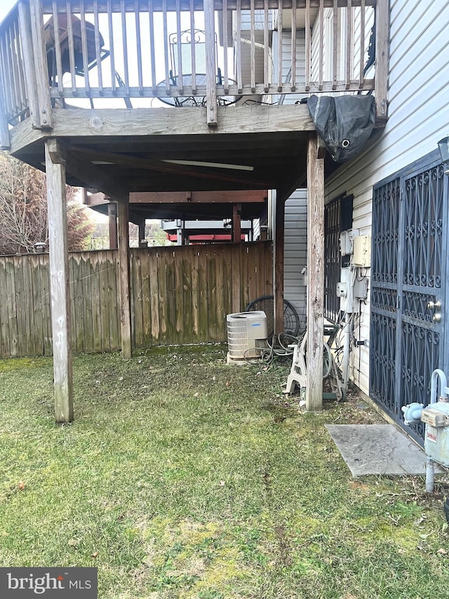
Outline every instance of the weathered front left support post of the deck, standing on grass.
POLYGON ((72 422, 72 336, 70 332, 69 254, 67 251, 67 204, 65 160, 55 138, 45 144, 47 173, 48 241, 50 246, 51 326, 55 420, 72 422))

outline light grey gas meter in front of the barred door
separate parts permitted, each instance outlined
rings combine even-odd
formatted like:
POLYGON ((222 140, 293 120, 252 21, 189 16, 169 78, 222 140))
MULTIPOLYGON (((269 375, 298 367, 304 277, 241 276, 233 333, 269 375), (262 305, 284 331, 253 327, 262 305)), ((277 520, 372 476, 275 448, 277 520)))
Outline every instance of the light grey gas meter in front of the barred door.
POLYGON ((435 402, 424 408, 422 422, 426 423, 424 451, 436 462, 449 467, 449 402, 435 402))

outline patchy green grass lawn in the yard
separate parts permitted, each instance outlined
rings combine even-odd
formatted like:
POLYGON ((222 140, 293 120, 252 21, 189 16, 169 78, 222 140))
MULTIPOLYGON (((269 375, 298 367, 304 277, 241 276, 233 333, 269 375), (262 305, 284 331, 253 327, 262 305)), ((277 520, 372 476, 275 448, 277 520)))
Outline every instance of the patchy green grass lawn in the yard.
POLYGON ((225 352, 77 356, 66 426, 51 360, 0 362, 0 566, 96 566, 101 599, 444 596, 448 479, 353 480, 324 424, 380 416, 305 414, 287 366, 225 352))

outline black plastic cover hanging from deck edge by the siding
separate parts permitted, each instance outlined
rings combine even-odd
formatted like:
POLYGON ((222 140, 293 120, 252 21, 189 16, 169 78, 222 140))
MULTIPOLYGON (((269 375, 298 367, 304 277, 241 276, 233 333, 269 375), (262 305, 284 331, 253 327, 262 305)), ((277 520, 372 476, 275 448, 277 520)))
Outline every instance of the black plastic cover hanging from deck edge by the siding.
POLYGON ((316 131, 335 162, 344 162, 360 152, 373 131, 373 96, 311 96, 307 105, 316 131))

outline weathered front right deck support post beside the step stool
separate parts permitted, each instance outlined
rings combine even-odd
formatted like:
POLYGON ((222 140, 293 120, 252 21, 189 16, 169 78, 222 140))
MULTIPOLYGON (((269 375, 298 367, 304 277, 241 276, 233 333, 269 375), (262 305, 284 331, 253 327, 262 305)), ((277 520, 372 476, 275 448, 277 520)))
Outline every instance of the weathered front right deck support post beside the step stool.
POLYGON ((323 409, 324 160, 316 135, 307 148, 307 381, 306 409, 323 409))

